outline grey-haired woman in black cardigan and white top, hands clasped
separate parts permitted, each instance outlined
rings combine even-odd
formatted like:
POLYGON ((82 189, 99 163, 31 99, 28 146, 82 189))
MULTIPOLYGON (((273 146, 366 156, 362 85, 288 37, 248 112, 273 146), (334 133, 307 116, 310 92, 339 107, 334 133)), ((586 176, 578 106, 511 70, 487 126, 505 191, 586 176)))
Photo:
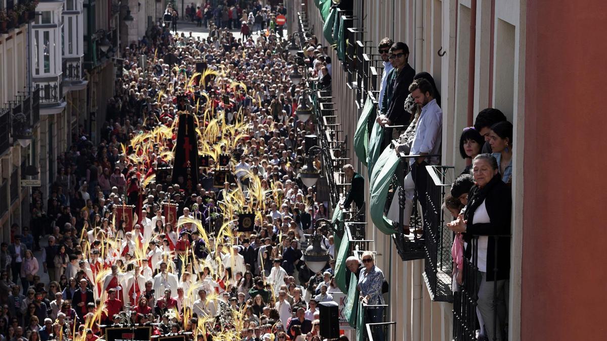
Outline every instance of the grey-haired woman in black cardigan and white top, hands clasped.
POLYGON ((476 258, 479 322, 481 326, 484 325, 489 339, 495 333, 496 340, 501 340, 507 318, 505 296, 510 272, 510 238, 497 236, 510 234, 512 198, 510 187, 502 181, 497 160, 492 155, 477 155, 472 162, 472 175, 475 185, 468 194, 466 212, 459 214, 447 227, 464 234, 465 255, 468 259, 476 258), (476 236, 478 254, 472 255, 470 241, 476 236), (497 243, 495 238, 498 238, 497 243), (497 291, 493 290, 496 284, 493 281, 497 281, 497 291), (493 307, 494 297, 497 299, 497 310, 493 307), (497 314, 497 326, 493 325, 494 314, 497 314))

